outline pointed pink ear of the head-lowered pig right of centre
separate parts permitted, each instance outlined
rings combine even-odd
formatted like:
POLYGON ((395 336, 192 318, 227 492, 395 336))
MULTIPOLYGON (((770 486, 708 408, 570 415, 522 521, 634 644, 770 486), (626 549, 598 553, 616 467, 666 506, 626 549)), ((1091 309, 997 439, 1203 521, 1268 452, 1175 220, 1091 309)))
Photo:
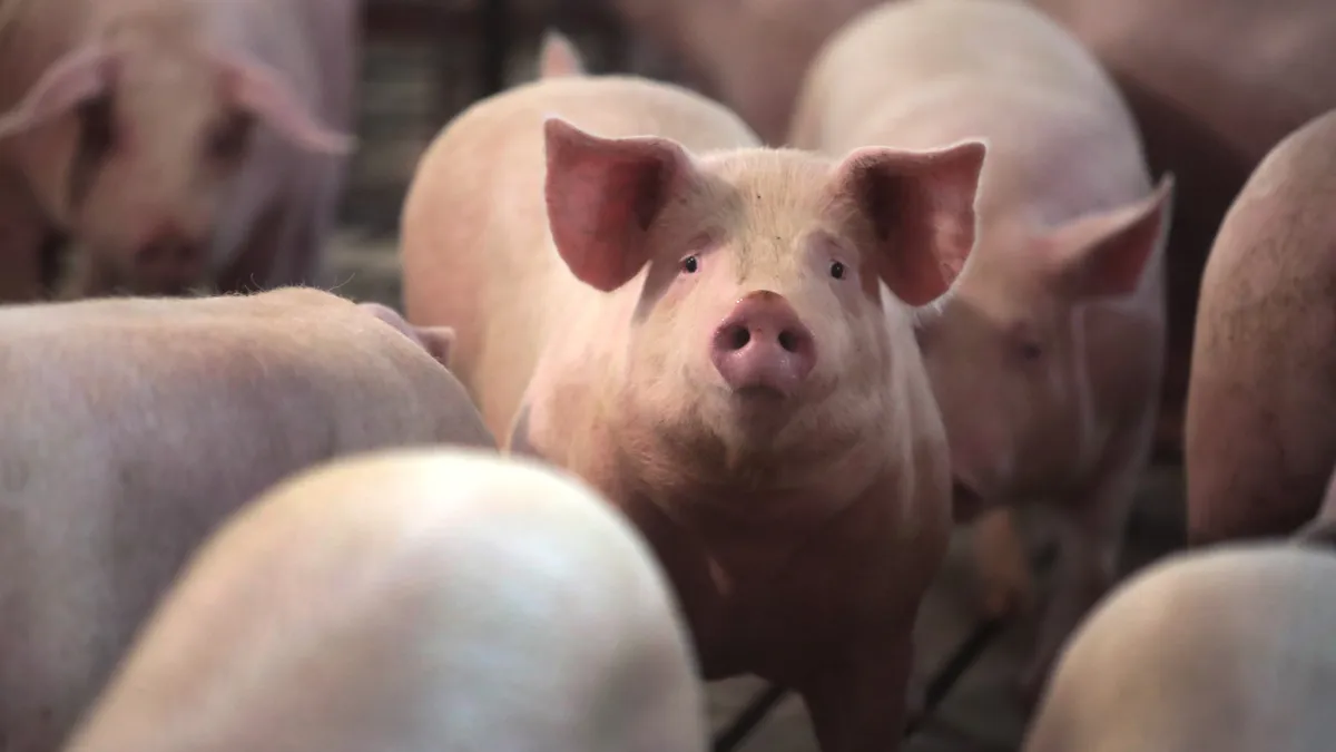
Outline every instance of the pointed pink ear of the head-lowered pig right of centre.
POLYGON ((1146 198, 1059 227, 1050 242, 1063 286, 1081 298, 1136 290, 1169 236, 1173 195, 1174 177, 1165 174, 1146 198))

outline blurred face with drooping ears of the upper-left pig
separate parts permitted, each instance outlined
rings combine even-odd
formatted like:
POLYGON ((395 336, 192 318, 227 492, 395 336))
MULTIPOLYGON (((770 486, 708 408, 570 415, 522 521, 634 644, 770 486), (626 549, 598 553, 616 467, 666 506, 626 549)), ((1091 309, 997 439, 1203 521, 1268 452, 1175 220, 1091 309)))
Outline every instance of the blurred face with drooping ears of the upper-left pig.
POLYGON ((210 272, 219 202, 262 124, 311 151, 350 146, 275 71, 158 31, 126 24, 69 52, 0 115, 0 139, 39 146, 28 171, 48 213, 138 293, 210 272))

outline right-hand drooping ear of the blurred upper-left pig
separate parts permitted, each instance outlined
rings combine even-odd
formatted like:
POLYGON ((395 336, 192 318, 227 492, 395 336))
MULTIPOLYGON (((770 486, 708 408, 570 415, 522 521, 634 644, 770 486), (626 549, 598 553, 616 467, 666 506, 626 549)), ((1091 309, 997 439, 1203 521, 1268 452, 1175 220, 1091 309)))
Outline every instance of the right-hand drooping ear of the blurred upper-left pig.
POLYGON ((259 116, 293 143, 310 151, 347 154, 357 140, 315 120, 290 87, 269 66, 218 55, 223 92, 236 107, 259 116))

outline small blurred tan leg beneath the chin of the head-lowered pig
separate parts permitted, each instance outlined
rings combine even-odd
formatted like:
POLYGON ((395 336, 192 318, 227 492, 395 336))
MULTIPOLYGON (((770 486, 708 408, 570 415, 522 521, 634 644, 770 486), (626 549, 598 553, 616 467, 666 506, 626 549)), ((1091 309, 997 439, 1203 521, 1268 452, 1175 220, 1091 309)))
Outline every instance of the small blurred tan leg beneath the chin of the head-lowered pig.
POLYGON ((997 507, 985 511, 974 523, 971 551, 985 618, 1011 616, 1034 602, 1030 558, 1015 522, 1015 510, 997 507))

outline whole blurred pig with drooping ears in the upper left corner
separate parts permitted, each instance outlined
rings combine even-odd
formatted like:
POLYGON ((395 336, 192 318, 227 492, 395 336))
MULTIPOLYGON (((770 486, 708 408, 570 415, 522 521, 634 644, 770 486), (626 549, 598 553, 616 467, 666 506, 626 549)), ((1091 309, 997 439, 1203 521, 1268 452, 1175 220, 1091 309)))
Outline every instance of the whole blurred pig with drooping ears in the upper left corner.
POLYGON ((63 297, 321 280, 353 138, 355 0, 5 0, 0 293, 63 297))

